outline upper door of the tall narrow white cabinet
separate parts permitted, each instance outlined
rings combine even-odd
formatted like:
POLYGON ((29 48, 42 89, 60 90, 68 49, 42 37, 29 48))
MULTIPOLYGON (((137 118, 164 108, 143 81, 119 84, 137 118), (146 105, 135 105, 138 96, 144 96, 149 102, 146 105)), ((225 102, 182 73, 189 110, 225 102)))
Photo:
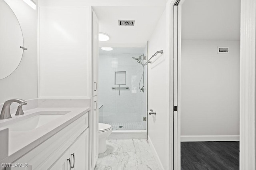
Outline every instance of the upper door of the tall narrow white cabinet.
POLYGON ((98 95, 99 23, 92 12, 92 96, 98 95))

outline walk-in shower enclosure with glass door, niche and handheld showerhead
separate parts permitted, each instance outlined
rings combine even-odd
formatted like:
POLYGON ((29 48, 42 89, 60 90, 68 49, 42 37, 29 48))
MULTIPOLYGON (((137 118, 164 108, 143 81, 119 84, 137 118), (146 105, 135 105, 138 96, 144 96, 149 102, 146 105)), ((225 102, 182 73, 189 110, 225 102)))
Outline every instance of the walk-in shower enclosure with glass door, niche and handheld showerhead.
POLYGON ((99 49, 99 123, 113 130, 146 130, 145 55, 146 48, 99 49))

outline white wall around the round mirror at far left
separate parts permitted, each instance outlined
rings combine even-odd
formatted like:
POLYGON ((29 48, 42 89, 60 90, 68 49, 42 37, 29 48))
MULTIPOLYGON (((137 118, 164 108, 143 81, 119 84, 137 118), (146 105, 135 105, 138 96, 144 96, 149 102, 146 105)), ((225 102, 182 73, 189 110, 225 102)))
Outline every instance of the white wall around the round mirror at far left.
POLYGON ((12 75, 0 80, 0 103, 13 98, 37 98, 37 10, 22 0, 5 0, 20 22, 24 51, 20 65, 12 75))

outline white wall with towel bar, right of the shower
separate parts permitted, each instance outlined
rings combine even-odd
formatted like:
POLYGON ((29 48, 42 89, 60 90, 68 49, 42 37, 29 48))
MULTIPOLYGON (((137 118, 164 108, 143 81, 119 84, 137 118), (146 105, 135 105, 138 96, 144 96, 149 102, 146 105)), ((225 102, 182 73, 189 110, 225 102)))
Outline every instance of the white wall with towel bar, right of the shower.
POLYGON ((148 64, 148 109, 156 111, 156 115, 148 115, 148 136, 153 144, 160 162, 166 167, 166 118, 167 110, 166 95, 168 85, 168 65, 169 56, 167 50, 167 32, 166 32, 166 11, 163 12, 154 33, 149 39, 148 57, 151 57, 156 51, 163 50, 163 54, 158 54, 152 58, 152 64, 148 64))

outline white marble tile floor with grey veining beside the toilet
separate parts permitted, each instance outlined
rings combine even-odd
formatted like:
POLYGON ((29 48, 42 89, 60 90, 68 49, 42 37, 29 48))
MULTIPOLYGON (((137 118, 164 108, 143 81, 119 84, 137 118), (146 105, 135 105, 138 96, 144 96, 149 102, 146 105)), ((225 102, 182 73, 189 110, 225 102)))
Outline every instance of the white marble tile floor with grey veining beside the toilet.
POLYGON ((95 170, 159 170, 146 139, 110 139, 99 155, 95 170))

